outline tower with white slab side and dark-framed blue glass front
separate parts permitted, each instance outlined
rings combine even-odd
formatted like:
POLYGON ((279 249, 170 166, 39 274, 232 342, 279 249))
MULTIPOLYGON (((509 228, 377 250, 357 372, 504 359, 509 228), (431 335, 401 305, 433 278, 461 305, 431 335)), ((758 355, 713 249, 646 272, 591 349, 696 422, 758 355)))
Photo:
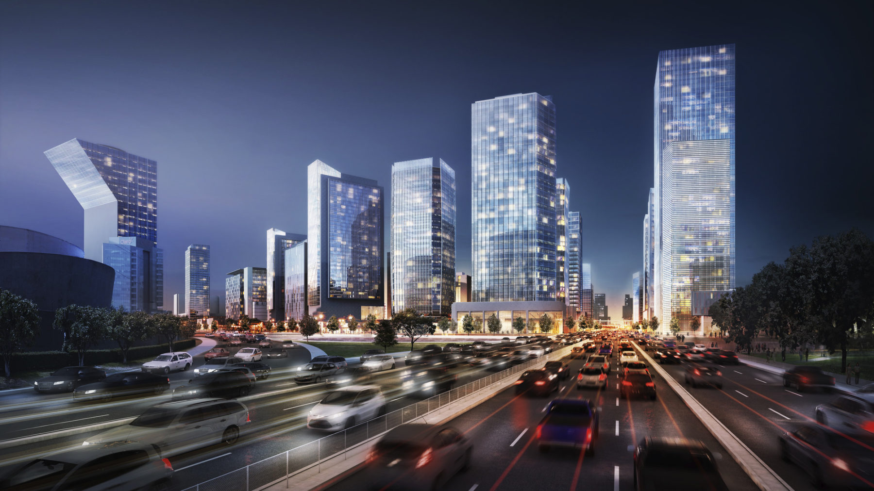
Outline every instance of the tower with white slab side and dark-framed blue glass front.
POLYGON ((310 314, 360 317, 362 308, 384 308, 382 186, 319 160, 307 181, 310 314))

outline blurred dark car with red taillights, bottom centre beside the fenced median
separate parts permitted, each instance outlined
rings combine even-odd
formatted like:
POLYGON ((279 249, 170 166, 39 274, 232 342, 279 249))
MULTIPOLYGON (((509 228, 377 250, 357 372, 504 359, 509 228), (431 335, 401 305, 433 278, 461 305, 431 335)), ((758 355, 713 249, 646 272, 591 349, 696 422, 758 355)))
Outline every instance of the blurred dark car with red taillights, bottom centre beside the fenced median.
POLYGON ((473 445, 452 426, 395 426, 371 448, 364 481, 374 489, 442 489, 468 470, 473 445))

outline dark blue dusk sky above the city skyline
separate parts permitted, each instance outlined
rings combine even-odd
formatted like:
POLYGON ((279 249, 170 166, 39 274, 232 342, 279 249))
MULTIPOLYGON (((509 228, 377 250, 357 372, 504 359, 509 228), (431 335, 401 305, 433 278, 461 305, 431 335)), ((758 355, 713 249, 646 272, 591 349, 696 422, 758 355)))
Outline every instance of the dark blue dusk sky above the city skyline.
POLYGON ((316 158, 389 190, 393 162, 440 156, 469 272, 470 104, 538 92, 618 318, 642 268, 660 50, 737 45, 738 285, 816 235, 874 236, 872 5, 5 0, 0 224, 81 245, 81 208, 43 156, 61 142, 156 160, 170 309, 187 245, 212 245, 224 296, 225 273, 266 265, 267 228, 306 232, 316 158))

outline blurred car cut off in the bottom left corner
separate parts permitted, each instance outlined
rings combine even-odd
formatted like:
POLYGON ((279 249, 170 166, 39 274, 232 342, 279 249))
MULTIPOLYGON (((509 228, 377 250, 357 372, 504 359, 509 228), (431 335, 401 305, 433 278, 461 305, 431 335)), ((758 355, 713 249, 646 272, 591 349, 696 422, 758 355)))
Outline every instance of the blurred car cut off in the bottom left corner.
POLYGON ((43 455, 0 478, 0 489, 170 488, 173 467, 155 446, 76 446, 43 455))

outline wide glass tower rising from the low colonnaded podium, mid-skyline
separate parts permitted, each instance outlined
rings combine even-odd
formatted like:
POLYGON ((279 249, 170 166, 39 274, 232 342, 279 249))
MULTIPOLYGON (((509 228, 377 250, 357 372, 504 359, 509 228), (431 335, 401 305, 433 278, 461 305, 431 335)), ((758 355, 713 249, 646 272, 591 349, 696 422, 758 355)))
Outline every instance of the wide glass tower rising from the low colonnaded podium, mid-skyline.
POLYGON ((556 301, 555 141, 551 97, 471 105, 474 301, 556 301))

